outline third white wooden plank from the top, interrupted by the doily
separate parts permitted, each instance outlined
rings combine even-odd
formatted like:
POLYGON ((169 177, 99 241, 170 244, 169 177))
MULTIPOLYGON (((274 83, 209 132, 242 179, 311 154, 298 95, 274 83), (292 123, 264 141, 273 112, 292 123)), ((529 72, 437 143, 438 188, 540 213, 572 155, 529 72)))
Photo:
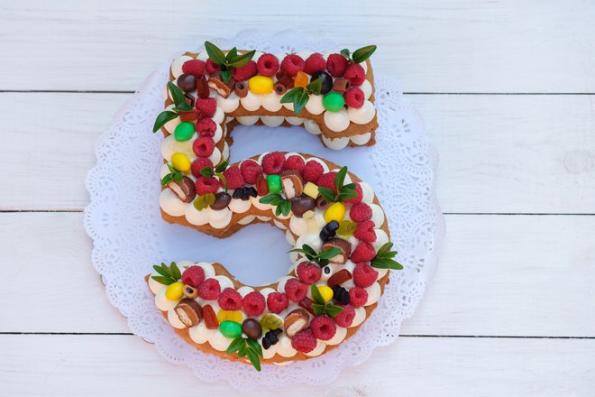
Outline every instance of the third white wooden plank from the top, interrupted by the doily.
MULTIPOLYGON (((5 213, 0 226, 0 257, 22 281, 5 283, 0 332, 129 332, 89 263, 81 214, 5 213)), ((595 337, 595 217, 448 216, 447 228, 402 334, 595 337)))

